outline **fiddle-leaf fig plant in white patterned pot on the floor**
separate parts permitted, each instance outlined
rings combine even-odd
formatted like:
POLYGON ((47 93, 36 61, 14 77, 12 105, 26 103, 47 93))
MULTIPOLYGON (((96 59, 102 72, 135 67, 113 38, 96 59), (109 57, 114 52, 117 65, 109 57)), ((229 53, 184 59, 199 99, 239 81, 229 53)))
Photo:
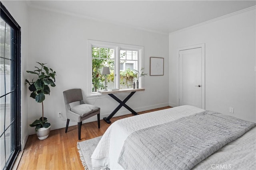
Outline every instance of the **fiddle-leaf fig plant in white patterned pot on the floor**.
MULTIPOLYGON (((38 63, 38 62, 36 62, 38 63)), ((30 94, 30 97, 35 99, 36 102, 42 103, 42 117, 40 119, 36 119, 32 124, 30 124, 30 127, 36 127, 36 134, 38 136, 38 139, 43 140, 46 139, 50 133, 50 123, 48 123, 47 118, 44 117, 44 104, 43 101, 45 100, 45 94, 50 95, 50 86, 55 87, 55 76, 56 72, 52 70, 52 68, 48 68, 45 66, 44 63, 38 63, 40 64, 41 68, 37 68, 34 71, 27 71, 31 74, 37 75, 37 80, 34 82, 34 79, 32 81, 28 81, 26 79, 25 84, 29 84, 28 89, 32 92, 30 94)))

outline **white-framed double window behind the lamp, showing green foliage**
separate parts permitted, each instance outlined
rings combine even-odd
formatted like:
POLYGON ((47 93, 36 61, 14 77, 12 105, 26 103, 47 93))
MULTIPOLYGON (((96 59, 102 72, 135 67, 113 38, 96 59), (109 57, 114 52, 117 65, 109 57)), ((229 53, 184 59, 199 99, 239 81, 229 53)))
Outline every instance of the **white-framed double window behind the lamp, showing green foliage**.
MULTIPOLYGON (((98 90, 104 89, 105 76, 101 75, 103 66, 110 68, 110 74, 106 76, 108 89, 132 88, 136 80, 135 70, 143 67, 143 47, 89 40, 89 51, 89 95, 98 94, 98 90)), ((139 78, 139 82, 142 87, 143 79, 139 78)))

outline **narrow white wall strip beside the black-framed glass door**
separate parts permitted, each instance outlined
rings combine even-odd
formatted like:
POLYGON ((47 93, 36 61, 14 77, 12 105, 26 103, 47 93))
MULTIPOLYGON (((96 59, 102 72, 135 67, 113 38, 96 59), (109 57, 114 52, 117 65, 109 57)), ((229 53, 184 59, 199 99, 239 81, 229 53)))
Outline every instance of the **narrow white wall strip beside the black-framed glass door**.
POLYGON ((21 142, 22 149, 28 139, 28 105, 25 86, 28 65, 28 8, 25 1, 1 1, 21 27, 21 142))

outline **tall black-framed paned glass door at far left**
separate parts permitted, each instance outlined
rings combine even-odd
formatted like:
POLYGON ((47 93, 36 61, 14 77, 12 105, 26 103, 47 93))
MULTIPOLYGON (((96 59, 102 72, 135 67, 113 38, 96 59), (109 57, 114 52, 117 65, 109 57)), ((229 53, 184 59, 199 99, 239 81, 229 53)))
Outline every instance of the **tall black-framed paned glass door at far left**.
POLYGON ((11 169, 20 151, 20 26, 1 3, 0 168, 11 169))

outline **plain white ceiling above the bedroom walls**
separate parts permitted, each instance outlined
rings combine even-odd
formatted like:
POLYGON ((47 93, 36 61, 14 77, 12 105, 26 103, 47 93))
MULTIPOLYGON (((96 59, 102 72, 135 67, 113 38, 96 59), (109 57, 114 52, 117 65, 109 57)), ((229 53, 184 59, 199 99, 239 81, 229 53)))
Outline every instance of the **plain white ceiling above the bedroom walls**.
POLYGON ((255 0, 31 0, 30 7, 168 34, 256 5, 255 0))

